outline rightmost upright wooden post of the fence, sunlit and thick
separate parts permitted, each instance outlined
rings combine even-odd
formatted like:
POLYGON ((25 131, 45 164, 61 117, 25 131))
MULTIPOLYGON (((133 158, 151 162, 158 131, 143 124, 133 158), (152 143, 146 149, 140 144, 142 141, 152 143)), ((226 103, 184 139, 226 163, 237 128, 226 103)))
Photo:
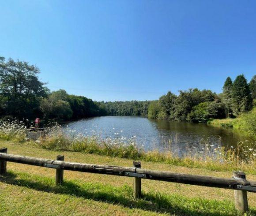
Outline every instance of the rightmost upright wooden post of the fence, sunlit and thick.
MULTIPOLYGON (((245 181, 245 173, 240 171, 233 172, 233 178, 245 181)), ((245 190, 234 190, 235 191, 235 206, 236 209, 244 213, 248 211, 247 192, 245 190)))

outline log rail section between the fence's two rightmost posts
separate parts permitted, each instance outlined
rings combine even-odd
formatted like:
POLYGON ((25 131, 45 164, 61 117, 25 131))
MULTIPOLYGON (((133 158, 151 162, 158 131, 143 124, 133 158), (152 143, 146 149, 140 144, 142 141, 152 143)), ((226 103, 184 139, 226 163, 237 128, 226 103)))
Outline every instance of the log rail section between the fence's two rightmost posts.
POLYGON ((200 185, 208 187, 219 187, 226 189, 236 189, 237 184, 250 185, 248 181, 239 179, 227 179, 202 175, 188 175, 180 173, 172 173, 168 171, 156 171, 146 169, 136 169, 136 173, 145 174, 146 179, 165 181, 165 182, 178 182, 191 185, 200 185))

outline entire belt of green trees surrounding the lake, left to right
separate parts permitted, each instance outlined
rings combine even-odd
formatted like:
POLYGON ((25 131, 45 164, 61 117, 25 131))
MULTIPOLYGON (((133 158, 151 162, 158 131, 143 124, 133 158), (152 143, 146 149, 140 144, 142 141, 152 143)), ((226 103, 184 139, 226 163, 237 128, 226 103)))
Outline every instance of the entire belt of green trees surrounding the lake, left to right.
POLYGON ((25 61, 0 57, 0 116, 2 119, 80 119, 100 115, 146 116, 152 119, 206 122, 208 119, 235 118, 253 108, 256 75, 248 83, 243 74, 232 82, 228 77, 223 91, 208 89, 170 91, 156 101, 97 102, 51 92, 38 78, 40 69, 25 61))

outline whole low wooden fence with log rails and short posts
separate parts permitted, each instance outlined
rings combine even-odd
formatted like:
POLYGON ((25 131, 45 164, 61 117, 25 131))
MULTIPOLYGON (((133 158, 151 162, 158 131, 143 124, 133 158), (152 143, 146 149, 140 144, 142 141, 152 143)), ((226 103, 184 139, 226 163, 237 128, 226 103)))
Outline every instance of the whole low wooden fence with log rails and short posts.
POLYGON ((182 184, 218 187, 234 190, 236 208, 241 212, 248 211, 247 192, 256 192, 256 182, 248 181, 245 173, 234 171, 233 178, 218 178, 202 175, 188 175, 168 171, 147 170, 141 168, 140 162, 133 162, 133 167, 105 166, 96 164, 80 164, 64 162, 64 156, 58 155, 56 160, 20 156, 7 153, 7 148, 0 149, 0 174, 6 172, 6 162, 29 164, 56 169, 56 184, 63 182, 64 170, 118 175, 134 178, 133 196, 141 197, 141 179, 178 182, 182 184))

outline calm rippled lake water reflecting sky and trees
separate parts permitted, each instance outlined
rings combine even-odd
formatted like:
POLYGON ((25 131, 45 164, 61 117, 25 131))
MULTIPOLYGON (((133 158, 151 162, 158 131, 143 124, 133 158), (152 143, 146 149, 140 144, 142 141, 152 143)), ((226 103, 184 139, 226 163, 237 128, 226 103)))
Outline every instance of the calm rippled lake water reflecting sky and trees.
POLYGON ((238 140, 244 141, 244 145, 252 145, 252 142, 255 142, 232 129, 143 117, 102 116, 81 119, 65 126, 75 134, 100 134, 102 138, 121 138, 124 141, 134 138, 136 145, 146 151, 171 150, 179 156, 188 152, 215 153, 214 149, 223 145, 235 147, 238 140))

